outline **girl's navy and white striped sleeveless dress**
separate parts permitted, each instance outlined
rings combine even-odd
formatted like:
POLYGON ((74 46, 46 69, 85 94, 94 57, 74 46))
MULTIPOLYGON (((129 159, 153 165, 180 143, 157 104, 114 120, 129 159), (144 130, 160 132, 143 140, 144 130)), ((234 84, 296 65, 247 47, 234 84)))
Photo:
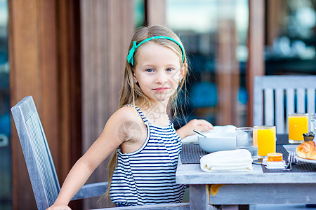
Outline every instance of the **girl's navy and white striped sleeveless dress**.
MULTIPOLYGON (((128 105, 131 106, 131 105, 128 105)), ((176 184, 181 139, 170 122, 152 125, 140 109, 147 139, 133 153, 117 150, 117 168, 112 176, 110 198, 119 205, 133 206, 182 202, 185 186, 176 184)))

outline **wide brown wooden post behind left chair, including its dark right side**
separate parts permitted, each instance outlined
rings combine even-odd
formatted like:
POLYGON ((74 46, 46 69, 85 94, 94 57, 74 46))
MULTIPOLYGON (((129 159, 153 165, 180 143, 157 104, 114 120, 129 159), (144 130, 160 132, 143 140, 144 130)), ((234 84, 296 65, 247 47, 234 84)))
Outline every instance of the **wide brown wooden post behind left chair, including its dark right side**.
MULTIPOLYGON (((78 156, 80 145, 71 142, 81 139, 76 2, 8 1, 11 106, 27 95, 34 98, 60 183, 78 156)), ((36 209, 14 124, 11 140, 13 209, 36 209)))

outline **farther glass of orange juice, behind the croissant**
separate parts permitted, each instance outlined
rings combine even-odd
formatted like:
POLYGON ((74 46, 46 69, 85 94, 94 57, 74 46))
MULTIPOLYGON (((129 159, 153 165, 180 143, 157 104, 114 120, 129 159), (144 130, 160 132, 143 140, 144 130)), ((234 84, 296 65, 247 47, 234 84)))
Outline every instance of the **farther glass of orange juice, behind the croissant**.
POLYGON ((308 133, 308 113, 289 113, 289 143, 303 143, 304 133, 308 133))

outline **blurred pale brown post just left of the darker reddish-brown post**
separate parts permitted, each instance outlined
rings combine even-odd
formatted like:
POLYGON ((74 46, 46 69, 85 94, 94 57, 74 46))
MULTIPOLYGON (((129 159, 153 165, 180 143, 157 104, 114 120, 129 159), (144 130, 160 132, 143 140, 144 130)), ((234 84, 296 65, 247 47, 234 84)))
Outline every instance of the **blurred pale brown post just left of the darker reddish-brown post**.
POLYGON ((218 23, 216 85, 218 87, 217 125, 238 125, 237 91, 239 65, 236 57, 237 34, 235 22, 221 19, 218 23))

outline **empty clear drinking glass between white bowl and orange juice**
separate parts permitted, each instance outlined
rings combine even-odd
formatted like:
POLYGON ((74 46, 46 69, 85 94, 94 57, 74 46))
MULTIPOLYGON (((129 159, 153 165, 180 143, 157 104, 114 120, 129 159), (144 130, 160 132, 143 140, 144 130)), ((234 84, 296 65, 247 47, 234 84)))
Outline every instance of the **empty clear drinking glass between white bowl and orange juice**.
POLYGON ((236 148, 246 149, 251 153, 252 160, 258 160, 258 142, 254 130, 254 127, 237 127, 236 148))

